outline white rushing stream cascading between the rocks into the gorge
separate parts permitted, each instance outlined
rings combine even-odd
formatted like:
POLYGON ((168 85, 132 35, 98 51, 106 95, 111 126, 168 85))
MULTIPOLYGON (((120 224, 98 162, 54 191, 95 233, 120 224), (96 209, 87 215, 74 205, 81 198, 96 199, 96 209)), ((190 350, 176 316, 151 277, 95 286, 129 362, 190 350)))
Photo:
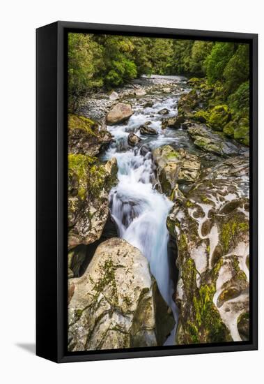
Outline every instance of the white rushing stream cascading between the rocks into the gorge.
MULTIPOLYGON (((123 125, 107 126, 115 142, 104 154, 104 159, 116 157, 118 161, 118 185, 109 195, 111 216, 116 222, 118 235, 140 249, 148 258, 150 272, 155 276, 162 297, 173 311, 176 325, 178 313, 172 299, 175 287, 169 269, 169 232, 166 228, 166 216, 173 203, 166 195, 154 189, 151 149, 166 144, 177 146, 179 143, 181 147, 189 147, 185 131, 169 128, 162 130, 163 116, 158 113, 166 108, 169 110, 166 117, 176 115, 179 96, 180 94, 162 95, 151 108, 143 108, 140 99, 134 100, 134 115, 129 121, 123 125), (141 135, 139 127, 146 121, 151 121, 150 127, 155 128, 158 135, 141 135), (130 132, 141 138, 139 147, 133 149, 127 144, 130 132)), ((175 344, 175 330, 176 327, 166 345, 175 344)))

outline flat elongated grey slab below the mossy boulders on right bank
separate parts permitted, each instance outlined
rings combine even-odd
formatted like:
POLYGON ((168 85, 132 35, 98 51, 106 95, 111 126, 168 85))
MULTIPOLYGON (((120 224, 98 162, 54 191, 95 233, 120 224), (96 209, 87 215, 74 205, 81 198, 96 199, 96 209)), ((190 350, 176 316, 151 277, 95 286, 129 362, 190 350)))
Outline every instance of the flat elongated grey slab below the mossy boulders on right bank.
POLYGON ((213 132, 203 124, 194 124, 187 131, 194 140, 194 144, 205 152, 212 152, 221 156, 234 156, 244 151, 239 144, 228 140, 223 134, 213 132))

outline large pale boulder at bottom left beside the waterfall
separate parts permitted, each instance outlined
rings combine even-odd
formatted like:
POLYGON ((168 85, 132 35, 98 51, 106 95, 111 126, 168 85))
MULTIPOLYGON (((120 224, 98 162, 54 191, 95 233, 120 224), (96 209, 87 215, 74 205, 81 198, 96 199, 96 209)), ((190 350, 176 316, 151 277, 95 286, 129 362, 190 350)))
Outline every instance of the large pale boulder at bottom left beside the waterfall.
POLYGON ((84 275, 70 284, 71 351, 162 346, 174 327, 148 260, 123 239, 100 244, 84 275))

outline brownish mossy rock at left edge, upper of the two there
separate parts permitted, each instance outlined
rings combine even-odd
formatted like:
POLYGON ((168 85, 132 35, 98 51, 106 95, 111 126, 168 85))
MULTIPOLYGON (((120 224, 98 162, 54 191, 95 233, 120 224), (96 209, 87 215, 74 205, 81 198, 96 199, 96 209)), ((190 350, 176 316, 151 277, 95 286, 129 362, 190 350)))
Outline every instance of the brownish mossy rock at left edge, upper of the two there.
POLYGON ((95 156, 113 141, 111 133, 87 117, 68 115, 68 151, 71 154, 95 156))

